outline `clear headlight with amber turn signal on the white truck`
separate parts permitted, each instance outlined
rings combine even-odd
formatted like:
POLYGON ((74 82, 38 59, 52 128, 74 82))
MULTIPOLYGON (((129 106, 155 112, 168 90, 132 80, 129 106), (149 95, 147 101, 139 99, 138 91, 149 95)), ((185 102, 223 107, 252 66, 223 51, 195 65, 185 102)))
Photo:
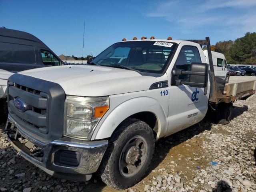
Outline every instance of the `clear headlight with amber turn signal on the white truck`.
POLYGON ((89 140, 98 121, 108 110, 108 106, 108 97, 67 96, 64 136, 89 140))

